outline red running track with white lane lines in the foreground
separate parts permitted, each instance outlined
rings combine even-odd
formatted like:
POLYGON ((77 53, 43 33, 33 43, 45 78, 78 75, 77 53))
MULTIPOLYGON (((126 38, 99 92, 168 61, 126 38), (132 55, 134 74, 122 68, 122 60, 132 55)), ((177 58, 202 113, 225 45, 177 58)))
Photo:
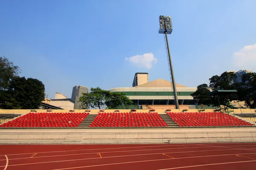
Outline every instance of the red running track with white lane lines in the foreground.
POLYGON ((0 145, 0 170, 253 170, 256 143, 0 145))

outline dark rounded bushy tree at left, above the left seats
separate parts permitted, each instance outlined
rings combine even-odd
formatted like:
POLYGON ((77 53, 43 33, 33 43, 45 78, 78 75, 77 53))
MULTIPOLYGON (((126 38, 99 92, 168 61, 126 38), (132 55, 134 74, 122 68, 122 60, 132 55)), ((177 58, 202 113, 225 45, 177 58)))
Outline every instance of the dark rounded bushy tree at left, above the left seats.
POLYGON ((44 84, 38 79, 13 77, 2 95, 1 108, 38 109, 44 100, 44 84))

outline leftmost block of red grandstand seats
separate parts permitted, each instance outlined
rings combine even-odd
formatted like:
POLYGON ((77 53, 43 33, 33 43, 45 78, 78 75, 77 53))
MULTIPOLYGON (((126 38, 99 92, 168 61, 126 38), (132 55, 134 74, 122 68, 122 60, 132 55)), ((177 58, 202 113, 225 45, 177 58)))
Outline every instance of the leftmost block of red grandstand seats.
POLYGON ((28 113, 0 127, 77 127, 89 113, 28 113))

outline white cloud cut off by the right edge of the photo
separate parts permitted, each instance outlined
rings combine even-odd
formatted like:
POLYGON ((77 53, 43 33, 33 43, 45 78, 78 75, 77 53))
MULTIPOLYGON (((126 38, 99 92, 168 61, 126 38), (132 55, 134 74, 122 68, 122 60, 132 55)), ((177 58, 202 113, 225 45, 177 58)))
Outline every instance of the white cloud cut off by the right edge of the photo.
POLYGON ((254 71, 256 65, 256 44, 247 45, 233 54, 233 66, 254 71))

